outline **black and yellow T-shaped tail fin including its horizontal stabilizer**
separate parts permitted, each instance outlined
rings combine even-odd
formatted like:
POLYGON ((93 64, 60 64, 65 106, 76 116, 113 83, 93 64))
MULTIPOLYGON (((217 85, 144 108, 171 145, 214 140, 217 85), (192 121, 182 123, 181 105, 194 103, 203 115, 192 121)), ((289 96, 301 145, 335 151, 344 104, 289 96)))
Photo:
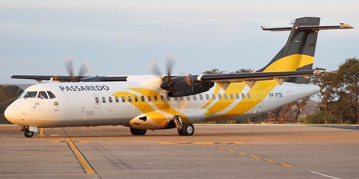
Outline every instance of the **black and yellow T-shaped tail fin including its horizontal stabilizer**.
MULTIPOLYGON (((291 21, 293 27, 267 28, 266 31, 291 31, 285 46, 264 68, 256 72, 283 72, 312 70, 318 31, 332 29, 353 29, 341 23, 340 26, 320 26, 320 17, 301 17, 291 21)), ((310 79, 292 77, 294 83, 309 83, 310 79)))

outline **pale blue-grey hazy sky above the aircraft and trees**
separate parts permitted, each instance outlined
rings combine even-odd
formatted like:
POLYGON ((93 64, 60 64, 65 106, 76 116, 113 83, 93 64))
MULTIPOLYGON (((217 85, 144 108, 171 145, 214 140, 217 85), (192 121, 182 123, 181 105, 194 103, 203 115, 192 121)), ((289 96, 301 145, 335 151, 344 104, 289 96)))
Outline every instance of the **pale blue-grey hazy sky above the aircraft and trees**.
POLYGON ((174 74, 261 69, 284 46, 292 19, 321 17, 314 66, 335 70, 359 56, 359 1, 0 1, 0 84, 11 75, 67 75, 64 59, 87 75, 149 75, 155 58, 177 58, 174 74))

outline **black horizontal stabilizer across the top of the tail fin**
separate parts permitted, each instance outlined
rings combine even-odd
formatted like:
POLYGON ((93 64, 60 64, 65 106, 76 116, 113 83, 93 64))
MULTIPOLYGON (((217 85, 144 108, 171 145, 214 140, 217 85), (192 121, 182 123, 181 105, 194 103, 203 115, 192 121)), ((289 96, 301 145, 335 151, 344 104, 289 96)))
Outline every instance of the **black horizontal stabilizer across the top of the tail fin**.
MULTIPOLYGON (((340 26, 296 26, 295 29, 298 30, 333 30, 333 29, 354 29, 354 27, 340 23, 340 26)), ((278 27, 278 28, 267 28, 262 26, 262 30, 264 31, 291 31, 292 27, 278 27)))

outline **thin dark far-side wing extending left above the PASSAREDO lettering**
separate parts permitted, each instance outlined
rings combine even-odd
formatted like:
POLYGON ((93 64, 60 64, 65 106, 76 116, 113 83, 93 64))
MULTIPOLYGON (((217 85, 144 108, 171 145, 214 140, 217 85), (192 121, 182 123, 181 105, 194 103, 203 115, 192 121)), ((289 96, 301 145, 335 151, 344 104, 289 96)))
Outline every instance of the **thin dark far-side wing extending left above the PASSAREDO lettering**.
POLYGON ((84 81, 84 82, 96 82, 96 81, 126 81, 127 76, 54 76, 54 75, 13 75, 11 78, 17 79, 33 79, 38 82, 43 80, 53 80, 60 82, 71 81, 84 81))

